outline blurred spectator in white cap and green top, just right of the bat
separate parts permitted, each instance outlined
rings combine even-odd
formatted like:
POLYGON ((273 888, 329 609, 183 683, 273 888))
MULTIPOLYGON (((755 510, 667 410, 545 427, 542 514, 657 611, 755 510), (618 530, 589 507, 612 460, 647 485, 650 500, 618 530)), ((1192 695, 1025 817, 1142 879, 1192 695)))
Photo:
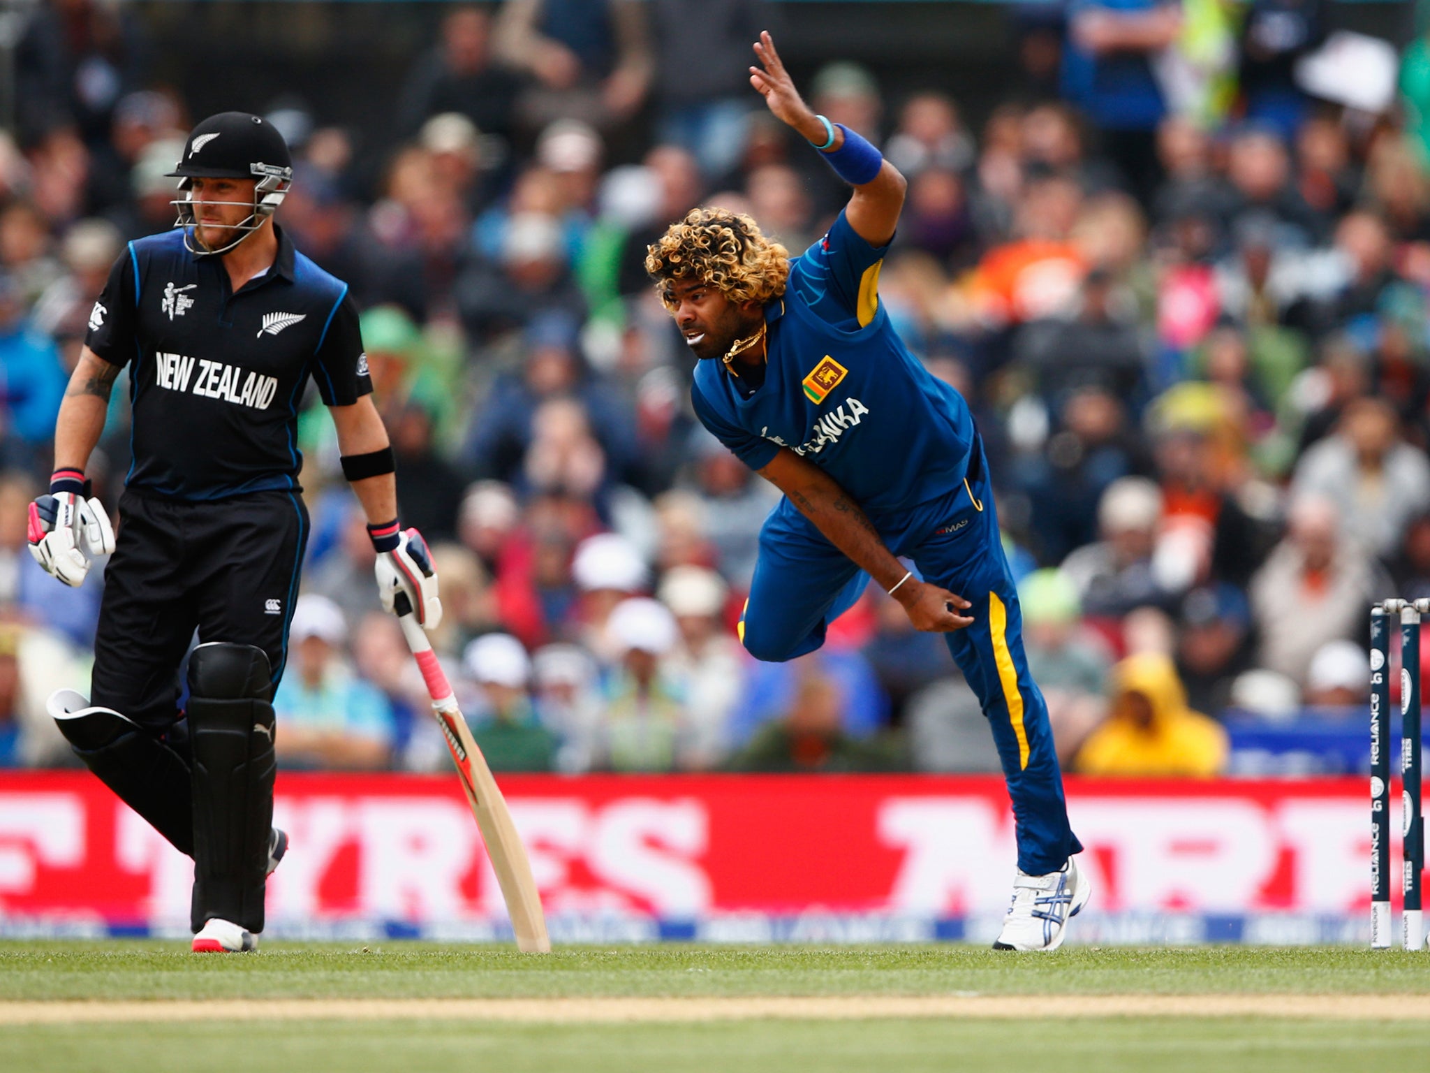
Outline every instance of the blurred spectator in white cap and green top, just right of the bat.
POLYGON ((492 771, 551 771, 556 738, 536 717, 531 658, 511 634, 486 634, 466 647, 462 670, 476 682, 472 737, 492 771))

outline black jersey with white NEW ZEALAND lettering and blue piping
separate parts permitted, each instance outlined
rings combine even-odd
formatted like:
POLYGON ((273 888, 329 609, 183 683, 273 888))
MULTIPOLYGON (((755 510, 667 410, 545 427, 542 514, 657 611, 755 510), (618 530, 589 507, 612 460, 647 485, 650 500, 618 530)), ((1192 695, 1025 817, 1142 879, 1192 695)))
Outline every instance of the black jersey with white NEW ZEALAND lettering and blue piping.
POLYGON ((190 502, 297 489, 307 378, 329 406, 372 391, 347 285, 276 233, 273 266, 237 292, 183 230, 130 242, 114 262, 84 342, 129 365, 126 485, 190 502))

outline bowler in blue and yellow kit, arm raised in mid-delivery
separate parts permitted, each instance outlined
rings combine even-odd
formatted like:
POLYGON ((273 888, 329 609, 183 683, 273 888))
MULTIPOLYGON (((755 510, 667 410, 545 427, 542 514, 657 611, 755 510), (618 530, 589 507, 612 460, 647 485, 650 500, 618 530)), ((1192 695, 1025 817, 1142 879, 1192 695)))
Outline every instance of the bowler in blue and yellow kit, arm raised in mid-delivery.
POLYGON ((672 223, 645 260, 701 359, 696 415, 784 492, 759 535, 739 637, 758 660, 811 652, 869 578, 918 629, 944 634, 1012 798, 1018 870, 994 949, 1054 950, 1090 887, 982 445, 968 403, 908 352, 879 305, 905 180, 858 133, 809 110, 768 33, 754 47, 751 84, 854 195, 792 262, 755 220, 724 209, 672 223))

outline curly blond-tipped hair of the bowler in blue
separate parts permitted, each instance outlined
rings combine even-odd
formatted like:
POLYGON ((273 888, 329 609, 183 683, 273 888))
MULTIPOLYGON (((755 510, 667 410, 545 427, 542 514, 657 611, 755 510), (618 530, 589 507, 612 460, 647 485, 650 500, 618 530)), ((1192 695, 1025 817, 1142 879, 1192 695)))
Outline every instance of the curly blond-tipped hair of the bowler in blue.
POLYGON ((646 246, 645 270, 666 308, 672 285, 698 279, 731 302, 771 302, 785 293, 789 250, 759 230, 749 216, 729 209, 691 209, 646 246))

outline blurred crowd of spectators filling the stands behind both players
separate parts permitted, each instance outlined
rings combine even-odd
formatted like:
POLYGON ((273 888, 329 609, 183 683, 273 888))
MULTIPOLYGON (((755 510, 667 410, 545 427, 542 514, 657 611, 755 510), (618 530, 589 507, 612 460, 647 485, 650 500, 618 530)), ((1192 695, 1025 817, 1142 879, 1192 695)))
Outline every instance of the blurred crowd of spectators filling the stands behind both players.
MULTIPOLYGON (((402 519, 440 574, 433 642, 496 770, 997 770, 942 640, 877 587, 811 657, 759 664, 735 635, 776 494, 694 421, 642 259, 696 203, 794 252, 842 206, 748 89, 776 14, 455 6, 373 117, 382 153, 267 106, 297 162, 279 223, 366 310, 402 519)), ((64 763, 43 702, 87 685, 102 585, 44 577, 26 504, 90 305, 126 240, 172 226, 163 173, 202 117, 146 82, 129 9, 29 19, 0 133, 0 765, 64 763)), ((1040 4, 977 123, 847 62, 802 83, 909 180, 881 298, 974 408, 1074 771, 1223 771, 1231 711, 1350 720, 1369 601, 1430 597, 1430 39, 1394 102, 1354 107, 1294 76, 1324 20, 1317 0, 1040 4)), ((440 768, 309 403, 280 760, 440 768)), ((110 508, 126 422, 117 391, 90 466, 110 508)))

